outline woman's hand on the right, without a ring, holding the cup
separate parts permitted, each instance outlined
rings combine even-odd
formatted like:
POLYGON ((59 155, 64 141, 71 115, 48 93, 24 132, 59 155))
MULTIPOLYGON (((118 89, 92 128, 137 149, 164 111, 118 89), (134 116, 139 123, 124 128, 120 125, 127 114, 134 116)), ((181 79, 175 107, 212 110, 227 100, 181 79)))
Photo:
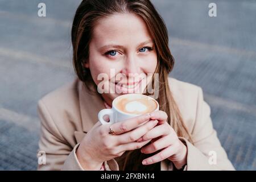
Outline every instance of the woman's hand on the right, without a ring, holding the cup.
POLYGON ((167 117, 164 111, 151 113, 151 119, 158 120, 158 125, 138 139, 137 142, 152 139, 151 144, 143 147, 141 152, 144 154, 160 152, 144 159, 142 164, 154 164, 168 159, 174 163, 177 169, 180 169, 187 163, 187 146, 180 141, 174 129, 167 123, 167 117))

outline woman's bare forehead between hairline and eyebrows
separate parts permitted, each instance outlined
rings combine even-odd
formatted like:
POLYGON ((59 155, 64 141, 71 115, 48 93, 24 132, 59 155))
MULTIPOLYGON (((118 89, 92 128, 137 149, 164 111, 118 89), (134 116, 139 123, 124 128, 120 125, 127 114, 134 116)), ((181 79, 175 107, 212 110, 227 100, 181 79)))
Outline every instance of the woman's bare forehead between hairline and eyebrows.
POLYGON ((144 20, 136 14, 113 14, 97 21, 93 28, 92 42, 141 43, 151 39, 144 20))

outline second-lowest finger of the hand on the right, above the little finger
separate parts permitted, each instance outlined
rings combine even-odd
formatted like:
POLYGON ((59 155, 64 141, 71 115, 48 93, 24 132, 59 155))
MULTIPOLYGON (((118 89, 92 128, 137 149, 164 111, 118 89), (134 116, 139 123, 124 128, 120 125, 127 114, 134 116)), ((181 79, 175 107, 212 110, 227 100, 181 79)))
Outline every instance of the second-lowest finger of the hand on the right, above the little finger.
POLYGON ((149 144, 146 147, 141 149, 143 154, 151 154, 168 146, 171 146, 172 142, 170 142, 170 136, 166 136, 156 140, 154 143, 149 144))

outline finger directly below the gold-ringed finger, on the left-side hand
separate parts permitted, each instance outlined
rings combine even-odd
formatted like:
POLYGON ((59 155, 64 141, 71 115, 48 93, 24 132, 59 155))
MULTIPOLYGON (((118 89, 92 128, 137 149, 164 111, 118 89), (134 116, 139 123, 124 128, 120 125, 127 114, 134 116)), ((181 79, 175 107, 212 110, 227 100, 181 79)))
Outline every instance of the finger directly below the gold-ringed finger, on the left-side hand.
POLYGON ((148 131, 154 128, 157 125, 157 123, 157 120, 151 120, 149 122, 146 122, 144 125, 137 127, 137 129, 134 129, 133 131, 129 131, 127 133, 118 135, 119 144, 130 143, 134 142, 135 140, 138 140, 144 134, 146 134, 148 131))

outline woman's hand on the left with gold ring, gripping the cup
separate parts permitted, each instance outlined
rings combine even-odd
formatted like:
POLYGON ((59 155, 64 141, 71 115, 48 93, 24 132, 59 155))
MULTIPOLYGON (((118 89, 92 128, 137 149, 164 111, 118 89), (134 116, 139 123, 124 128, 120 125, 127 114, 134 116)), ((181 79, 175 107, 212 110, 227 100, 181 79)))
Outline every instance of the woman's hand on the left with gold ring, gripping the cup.
POLYGON ((136 140, 153 129, 157 123, 157 120, 150 120, 150 114, 140 115, 112 124, 112 130, 117 134, 113 135, 109 134, 110 125, 97 122, 77 148, 77 159, 85 170, 99 170, 104 161, 117 158, 125 151, 141 148, 150 142, 136 140))

